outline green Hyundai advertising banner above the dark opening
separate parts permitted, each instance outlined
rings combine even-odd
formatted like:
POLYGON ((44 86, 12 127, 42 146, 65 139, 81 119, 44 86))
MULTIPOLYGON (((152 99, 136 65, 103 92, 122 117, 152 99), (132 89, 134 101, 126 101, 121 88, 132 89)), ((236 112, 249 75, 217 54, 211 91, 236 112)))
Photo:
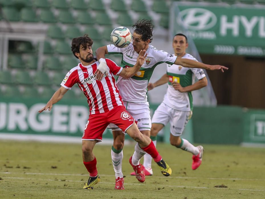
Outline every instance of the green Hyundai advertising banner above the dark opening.
POLYGON ((175 2, 171 31, 180 26, 199 53, 265 56, 265 8, 175 2))

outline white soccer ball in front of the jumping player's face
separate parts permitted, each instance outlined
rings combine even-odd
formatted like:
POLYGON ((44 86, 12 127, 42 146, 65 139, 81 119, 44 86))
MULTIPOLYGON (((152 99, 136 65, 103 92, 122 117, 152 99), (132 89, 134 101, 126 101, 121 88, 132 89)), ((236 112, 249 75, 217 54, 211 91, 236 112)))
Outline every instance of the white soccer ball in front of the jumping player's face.
POLYGON ((119 26, 111 32, 111 42, 118 48, 125 48, 132 42, 132 34, 128 28, 119 26))

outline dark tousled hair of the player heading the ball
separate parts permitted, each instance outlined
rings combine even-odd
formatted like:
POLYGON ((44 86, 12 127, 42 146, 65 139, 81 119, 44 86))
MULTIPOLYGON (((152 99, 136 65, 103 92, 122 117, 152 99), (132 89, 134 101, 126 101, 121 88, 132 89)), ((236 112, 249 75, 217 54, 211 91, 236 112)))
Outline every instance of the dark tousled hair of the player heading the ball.
POLYGON ((150 40, 152 42, 154 25, 152 24, 152 20, 142 19, 138 20, 135 24, 132 25, 132 30, 141 35, 142 41, 150 40))

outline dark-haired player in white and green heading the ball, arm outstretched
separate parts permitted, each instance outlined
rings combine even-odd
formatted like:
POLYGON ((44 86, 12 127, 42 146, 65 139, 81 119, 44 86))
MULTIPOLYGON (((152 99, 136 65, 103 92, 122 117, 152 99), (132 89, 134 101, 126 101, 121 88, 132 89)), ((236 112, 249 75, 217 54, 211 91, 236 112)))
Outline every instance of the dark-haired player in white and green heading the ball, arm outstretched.
MULTIPOLYGON (((154 71, 154 68, 161 63, 168 63, 170 65, 177 64, 183 67, 190 68, 203 68, 209 70, 227 69, 220 65, 207 65, 190 59, 181 59, 175 55, 171 55, 165 51, 157 50, 154 46, 150 45, 152 42, 152 32, 154 25, 152 20, 139 20, 133 26, 132 43, 125 48, 115 47, 113 44, 100 47, 96 50, 97 59, 100 59, 100 65, 105 65, 105 54, 123 54, 121 67, 129 68, 136 63, 138 53, 141 50, 146 50, 148 54, 145 63, 140 70, 131 78, 119 77, 117 79, 117 86, 120 90, 120 94, 123 98, 126 110, 138 121, 137 125, 142 134, 150 136, 151 118, 149 103, 147 102, 147 85, 150 77, 154 71)), ((172 66, 173 67, 173 66, 172 66)), ((98 79, 101 79, 102 73, 98 72, 98 79)), ((122 148, 124 145, 124 134, 122 130, 115 125, 109 125, 113 131, 113 146, 111 151, 111 157, 113 161, 113 167, 115 175, 122 177, 121 162, 123 158, 122 148)), ((129 162, 132 165, 134 172, 136 173, 136 179, 140 182, 144 182, 145 174, 140 164, 141 157, 146 154, 138 143, 135 145, 135 151, 129 162)))

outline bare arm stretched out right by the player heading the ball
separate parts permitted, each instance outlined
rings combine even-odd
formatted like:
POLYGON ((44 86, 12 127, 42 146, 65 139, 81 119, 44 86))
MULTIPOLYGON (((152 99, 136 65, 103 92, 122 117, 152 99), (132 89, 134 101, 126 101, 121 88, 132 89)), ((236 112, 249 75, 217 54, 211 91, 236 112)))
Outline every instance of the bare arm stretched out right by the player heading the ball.
POLYGON ((227 67, 221 66, 221 65, 209 65, 209 64, 204 64, 198 61, 194 61, 191 59, 182 59, 177 57, 175 63, 176 65, 181 65, 183 67, 188 67, 188 68, 199 68, 199 69, 208 69, 208 70, 220 70, 224 72, 224 70, 228 70, 227 67))

